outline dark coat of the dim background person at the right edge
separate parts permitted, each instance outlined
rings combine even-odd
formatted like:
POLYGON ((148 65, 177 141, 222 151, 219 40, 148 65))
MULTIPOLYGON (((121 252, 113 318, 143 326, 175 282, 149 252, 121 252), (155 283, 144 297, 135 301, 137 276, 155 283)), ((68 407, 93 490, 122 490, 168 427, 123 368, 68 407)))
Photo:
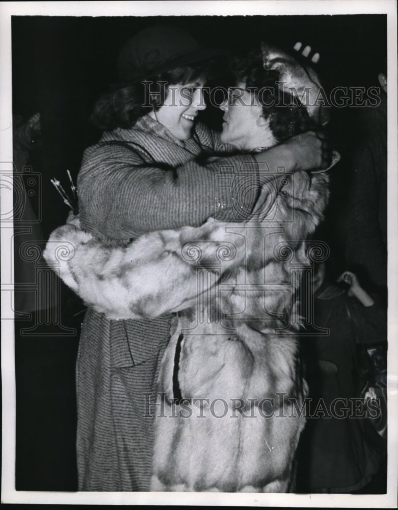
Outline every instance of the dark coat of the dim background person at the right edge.
POLYGON ((357 112, 357 141, 348 153, 351 192, 344 229, 346 267, 368 288, 387 291, 387 83, 380 105, 357 112))

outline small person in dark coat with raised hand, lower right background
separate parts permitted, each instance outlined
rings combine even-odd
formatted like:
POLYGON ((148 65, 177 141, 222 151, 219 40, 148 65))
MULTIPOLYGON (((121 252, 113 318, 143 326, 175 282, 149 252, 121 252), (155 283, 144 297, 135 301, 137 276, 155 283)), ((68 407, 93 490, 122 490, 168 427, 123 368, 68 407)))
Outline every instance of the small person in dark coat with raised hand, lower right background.
MULTIPOLYGON (((343 273, 341 281, 349 285, 348 291, 325 280, 324 264, 317 267, 314 323, 328 328, 329 335, 303 339, 305 378, 311 399, 309 414, 314 417, 307 419, 300 441, 298 492, 352 493, 384 468, 385 444, 378 437, 369 440, 365 434, 366 418, 352 418, 355 410, 350 402, 359 397, 362 383, 357 371, 361 345, 356 345, 358 339, 348 306, 367 345, 385 342, 385 310, 359 285, 355 274, 343 273), (321 399, 326 413, 316 413, 321 399), (347 401, 334 406, 335 399, 347 401), (347 408, 349 411, 344 412, 347 408)), ((372 489, 370 492, 383 493, 386 488, 382 482, 375 483, 372 489)))

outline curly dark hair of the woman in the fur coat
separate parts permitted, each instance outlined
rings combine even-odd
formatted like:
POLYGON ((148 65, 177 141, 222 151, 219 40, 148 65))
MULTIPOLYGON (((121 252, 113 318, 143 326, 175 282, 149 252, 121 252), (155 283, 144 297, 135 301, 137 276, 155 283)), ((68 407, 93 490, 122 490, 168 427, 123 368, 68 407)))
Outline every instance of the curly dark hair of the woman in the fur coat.
POLYGON ((298 98, 279 86, 279 72, 263 68, 260 49, 231 61, 231 79, 236 85, 245 83, 245 89, 255 94, 278 142, 315 128, 298 98))

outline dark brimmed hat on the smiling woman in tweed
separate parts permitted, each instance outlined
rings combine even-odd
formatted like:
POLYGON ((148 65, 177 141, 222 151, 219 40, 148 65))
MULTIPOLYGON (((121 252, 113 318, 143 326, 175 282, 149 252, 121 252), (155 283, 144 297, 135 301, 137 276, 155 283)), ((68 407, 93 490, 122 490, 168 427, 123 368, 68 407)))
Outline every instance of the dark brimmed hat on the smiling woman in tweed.
POLYGON ((205 48, 185 30, 173 25, 152 25, 138 32, 122 47, 119 79, 136 82, 176 67, 226 55, 223 50, 205 48))

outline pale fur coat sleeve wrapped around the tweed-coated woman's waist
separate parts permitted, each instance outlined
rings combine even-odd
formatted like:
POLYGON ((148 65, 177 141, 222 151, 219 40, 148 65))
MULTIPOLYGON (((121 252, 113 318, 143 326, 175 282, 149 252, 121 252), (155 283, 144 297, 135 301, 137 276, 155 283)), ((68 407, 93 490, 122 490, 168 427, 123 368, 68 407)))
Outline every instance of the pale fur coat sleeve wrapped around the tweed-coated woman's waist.
POLYGON ((192 254, 216 232, 210 218, 198 228, 153 232, 126 247, 106 247, 66 224, 51 234, 44 257, 66 285, 109 319, 153 318, 191 305, 197 295, 192 254))

